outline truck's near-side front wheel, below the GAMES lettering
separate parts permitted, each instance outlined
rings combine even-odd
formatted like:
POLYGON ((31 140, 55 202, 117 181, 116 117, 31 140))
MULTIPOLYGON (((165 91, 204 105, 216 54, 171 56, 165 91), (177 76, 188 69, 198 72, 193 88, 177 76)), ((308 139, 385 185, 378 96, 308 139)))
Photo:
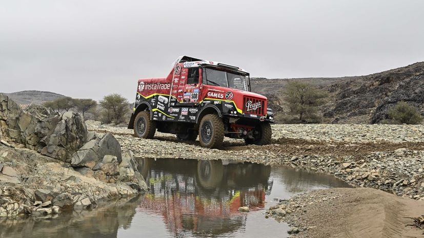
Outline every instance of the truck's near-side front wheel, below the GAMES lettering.
POLYGON ((207 114, 199 126, 199 141, 202 147, 218 148, 224 141, 224 123, 218 115, 207 114))

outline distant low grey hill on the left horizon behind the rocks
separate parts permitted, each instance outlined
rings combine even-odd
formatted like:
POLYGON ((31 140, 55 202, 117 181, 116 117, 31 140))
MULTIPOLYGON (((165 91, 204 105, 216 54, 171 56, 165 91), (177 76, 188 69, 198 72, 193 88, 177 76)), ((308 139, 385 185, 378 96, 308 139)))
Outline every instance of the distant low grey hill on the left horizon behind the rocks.
POLYGON ((46 91, 21 91, 15 93, 5 93, 10 99, 15 101, 17 104, 42 104, 43 102, 52 101, 57 98, 66 97, 62 94, 46 92, 46 91))

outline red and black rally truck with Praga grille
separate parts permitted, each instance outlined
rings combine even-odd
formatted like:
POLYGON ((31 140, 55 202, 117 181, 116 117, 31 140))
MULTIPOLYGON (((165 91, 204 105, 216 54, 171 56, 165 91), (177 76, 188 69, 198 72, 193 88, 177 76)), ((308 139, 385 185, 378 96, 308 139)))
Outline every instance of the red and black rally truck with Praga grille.
POLYGON ((271 142, 273 112, 267 98, 250 92, 249 73, 229 64, 180 56, 166 78, 138 80, 128 124, 134 136, 153 138, 156 129, 218 148, 224 136, 246 144, 271 142))

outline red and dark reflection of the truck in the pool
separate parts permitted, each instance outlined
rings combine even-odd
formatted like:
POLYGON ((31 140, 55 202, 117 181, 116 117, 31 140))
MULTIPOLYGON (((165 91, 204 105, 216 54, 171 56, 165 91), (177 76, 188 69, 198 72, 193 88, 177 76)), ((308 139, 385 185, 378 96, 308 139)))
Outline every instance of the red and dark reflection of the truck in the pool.
POLYGON ((140 211, 160 214, 176 237, 219 236, 245 227, 251 210, 264 209, 271 167, 221 160, 139 159, 150 191, 140 211))

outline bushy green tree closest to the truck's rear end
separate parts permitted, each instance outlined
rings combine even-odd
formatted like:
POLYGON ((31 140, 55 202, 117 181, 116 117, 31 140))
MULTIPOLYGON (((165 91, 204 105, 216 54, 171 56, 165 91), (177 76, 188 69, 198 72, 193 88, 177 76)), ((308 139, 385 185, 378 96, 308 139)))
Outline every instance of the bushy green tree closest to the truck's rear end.
POLYGON ((105 109, 104 122, 122 122, 129 110, 128 104, 126 98, 116 93, 103 97, 103 100, 100 100, 100 105, 105 109))

